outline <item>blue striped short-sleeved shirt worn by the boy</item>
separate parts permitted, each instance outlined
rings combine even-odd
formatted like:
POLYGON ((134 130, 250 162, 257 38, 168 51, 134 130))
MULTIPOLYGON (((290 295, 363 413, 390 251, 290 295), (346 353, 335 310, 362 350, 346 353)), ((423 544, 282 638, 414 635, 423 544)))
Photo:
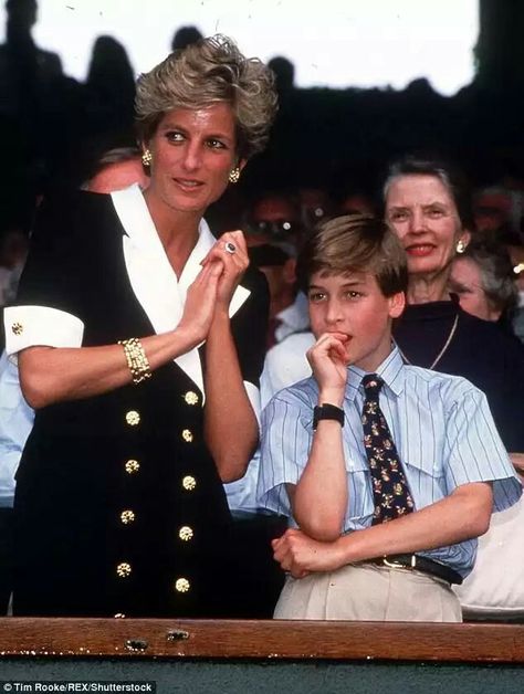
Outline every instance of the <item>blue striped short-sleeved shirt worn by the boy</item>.
MULTIPOLYGON (((345 533, 368 527, 374 509, 360 422, 364 374, 348 367, 343 428, 348 485, 345 533)), ((520 498, 521 484, 481 390, 464 378, 405 365, 397 347, 377 374, 385 382, 380 408, 416 508, 429 506, 470 482, 493 482, 495 511, 520 498)), ((307 378, 277 392, 262 414, 259 503, 289 516, 293 525, 285 484, 296 484, 307 463, 317 402, 317 383, 307 378)), ((474 564, 476 539, 418 554, 447 564, 465 577, 474 564)))

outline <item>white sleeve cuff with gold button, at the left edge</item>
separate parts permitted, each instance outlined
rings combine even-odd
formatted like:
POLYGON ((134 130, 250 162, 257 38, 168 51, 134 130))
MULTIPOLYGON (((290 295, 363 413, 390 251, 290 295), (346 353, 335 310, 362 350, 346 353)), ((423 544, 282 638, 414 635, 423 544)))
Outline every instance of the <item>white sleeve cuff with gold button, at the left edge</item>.
POLYGON ((48 306, 9 306, 3 312, 6 351, 12 357, 27 347, 81 347, 83 322, 48 306))

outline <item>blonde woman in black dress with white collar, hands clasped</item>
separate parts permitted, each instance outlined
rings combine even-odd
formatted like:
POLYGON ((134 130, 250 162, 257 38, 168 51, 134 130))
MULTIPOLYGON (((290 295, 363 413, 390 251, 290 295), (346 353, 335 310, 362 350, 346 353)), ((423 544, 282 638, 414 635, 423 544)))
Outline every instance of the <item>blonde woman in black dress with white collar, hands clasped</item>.
POLYGON ((256 445, 268 312, 240 231, 203 220, 268 139, 271 72, 224 36, 138 80, 150 182, 43 203, 6 314, 36 410, 17 480, 14 613, 222 614, 222 482, 256 445))

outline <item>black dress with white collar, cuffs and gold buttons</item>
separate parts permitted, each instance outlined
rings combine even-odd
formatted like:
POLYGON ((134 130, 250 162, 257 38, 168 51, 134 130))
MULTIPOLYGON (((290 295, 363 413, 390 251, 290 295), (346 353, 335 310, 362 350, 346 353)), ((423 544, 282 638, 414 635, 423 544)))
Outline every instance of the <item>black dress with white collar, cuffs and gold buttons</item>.
MULTIPOLYGON (((202 221, 177 280, 137 187, 44 203, 8 353, 174 329, 213 242, 202 221)), ((258 272, 230 314, 254 402, 268 315, 258 272)), ((205 370, 202 345, 139 386, 36 412, 17 476, 17 614, 223 616, 230 516, 203 441, 205 370)))

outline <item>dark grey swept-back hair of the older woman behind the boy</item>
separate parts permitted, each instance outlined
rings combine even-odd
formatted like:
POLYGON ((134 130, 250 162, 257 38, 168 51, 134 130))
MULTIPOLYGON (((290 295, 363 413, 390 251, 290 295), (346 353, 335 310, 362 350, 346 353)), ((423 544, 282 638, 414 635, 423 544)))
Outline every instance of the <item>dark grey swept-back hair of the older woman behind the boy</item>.
POLYGON ((382 203, 386 207, 389 187, 400 176, 434 176, 450 193, 463 229, 475 229, 470 183, 455 164, 439 156, 406 155, 392 161, 387 170, 382 188, 382 203))

